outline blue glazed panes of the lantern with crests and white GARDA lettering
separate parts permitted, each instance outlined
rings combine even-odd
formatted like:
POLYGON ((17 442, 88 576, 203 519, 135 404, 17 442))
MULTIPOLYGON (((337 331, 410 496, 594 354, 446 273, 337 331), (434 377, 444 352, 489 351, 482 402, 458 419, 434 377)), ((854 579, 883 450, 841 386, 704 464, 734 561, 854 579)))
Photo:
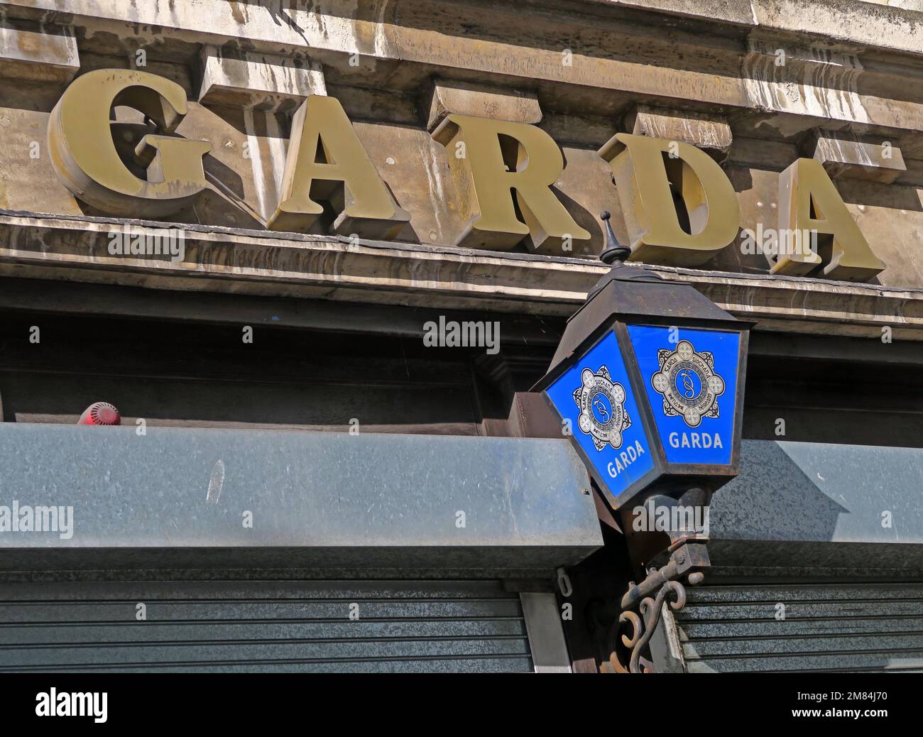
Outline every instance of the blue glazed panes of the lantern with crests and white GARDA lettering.
MULTIPOLYGON (((598 334, 598 333, 597 333, 598 334)), ((549 373, 545 398, 614 508, 737 474, 747 333, 616 322, 549 373)))

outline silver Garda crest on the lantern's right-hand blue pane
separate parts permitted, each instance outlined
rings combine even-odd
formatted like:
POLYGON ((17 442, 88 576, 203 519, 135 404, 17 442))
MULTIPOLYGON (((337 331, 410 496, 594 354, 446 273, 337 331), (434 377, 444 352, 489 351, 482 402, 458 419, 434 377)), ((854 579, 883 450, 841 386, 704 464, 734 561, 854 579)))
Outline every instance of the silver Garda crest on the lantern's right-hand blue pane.
POLYGON ((690 428, 698 428, 702 417, 718 417, 725 380, 714 372, 713 354, 696 353, 689 341, 679 341, 672 351, 657 351, 657 358, 660 370, 651 384, 664 397, 666 417, 682 417, 690 428))

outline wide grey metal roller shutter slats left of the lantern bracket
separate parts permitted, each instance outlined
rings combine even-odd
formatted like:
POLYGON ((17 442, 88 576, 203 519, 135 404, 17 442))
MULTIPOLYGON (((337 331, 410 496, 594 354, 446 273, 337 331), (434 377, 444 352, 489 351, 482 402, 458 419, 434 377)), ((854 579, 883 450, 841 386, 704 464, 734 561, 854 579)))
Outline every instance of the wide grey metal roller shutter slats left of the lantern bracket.
POLYGON ((496 581, 0 584, 0 671, 151 670, 533 671, 533 661, 519 595, 496 581))

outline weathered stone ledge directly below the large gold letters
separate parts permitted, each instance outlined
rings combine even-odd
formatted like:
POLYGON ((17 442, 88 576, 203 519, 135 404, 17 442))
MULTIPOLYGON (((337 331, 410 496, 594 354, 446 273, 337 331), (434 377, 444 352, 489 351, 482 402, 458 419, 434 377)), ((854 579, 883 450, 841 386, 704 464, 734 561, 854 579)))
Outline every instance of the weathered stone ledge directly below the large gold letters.
MULTIPOLYGON (((112 256, 109 234, 164 224, 0 211, 0 275, 426 308, 571 314, 606 272, 587 260, 184 226, 186 259, 112 256)), ((150 229, 150 230, 149 230, 150 229)), ((923 340, 923 289, 646 266, 759 329, 923 340)))

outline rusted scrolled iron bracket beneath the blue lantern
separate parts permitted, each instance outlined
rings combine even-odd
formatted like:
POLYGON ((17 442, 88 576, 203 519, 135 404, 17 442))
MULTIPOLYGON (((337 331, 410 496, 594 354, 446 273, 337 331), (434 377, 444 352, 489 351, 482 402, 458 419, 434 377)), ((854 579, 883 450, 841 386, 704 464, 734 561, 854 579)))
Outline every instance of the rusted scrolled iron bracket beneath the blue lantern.
MULTIPOLYGON (((653 672, 653 661, 647 649, 665 601, 670 609, 681 610, 686 606, 685 579, 689 586, 698 586, 705 578, 703 573, 710 566, 707 538, 685 537, 670 546, 670 561, 660 569, 652 569, 640 584, 631 582, 629 590, 621 600, 621 614, 614 626, 620 630, 625 622, 631 624, 631 634, 622 634, 620 645, 609 656, 601 671, 617 673, 653 672), (627 655, 627 657, 626 657, 627 655), (627 663, 627 664, 626 664, 627 663)), ((617 634, 617 633, 616 633, 617 634)))

